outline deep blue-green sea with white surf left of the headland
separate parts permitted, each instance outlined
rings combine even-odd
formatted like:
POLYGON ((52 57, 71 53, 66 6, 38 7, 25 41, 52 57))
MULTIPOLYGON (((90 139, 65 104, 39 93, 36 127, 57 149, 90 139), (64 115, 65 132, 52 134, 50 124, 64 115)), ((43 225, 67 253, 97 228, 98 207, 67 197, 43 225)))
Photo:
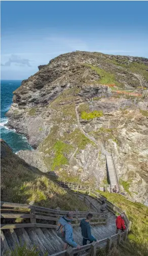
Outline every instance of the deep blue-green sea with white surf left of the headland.
POLYGON ((20 85, 21 81, 19 80, 1 80, 1 138, 8 143, 15 153, 19 150, 32 150, 25 136, 5 127, 8 122, 5 114, 12 104, 13 91, 20 85))

